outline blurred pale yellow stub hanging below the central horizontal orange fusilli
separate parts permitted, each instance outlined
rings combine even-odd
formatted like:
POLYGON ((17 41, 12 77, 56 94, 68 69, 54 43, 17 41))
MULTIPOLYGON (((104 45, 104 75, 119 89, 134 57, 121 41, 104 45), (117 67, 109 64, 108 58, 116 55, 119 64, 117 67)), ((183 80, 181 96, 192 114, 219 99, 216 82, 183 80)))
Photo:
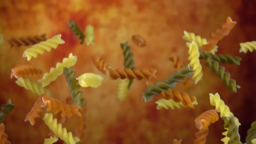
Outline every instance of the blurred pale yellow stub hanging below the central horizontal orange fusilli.
POLYGON ((118 92, 117 97, 119 100, 123 101, 128 93, 128 85, 130 80, 129 79, 120 79, 118 84, 118 92))

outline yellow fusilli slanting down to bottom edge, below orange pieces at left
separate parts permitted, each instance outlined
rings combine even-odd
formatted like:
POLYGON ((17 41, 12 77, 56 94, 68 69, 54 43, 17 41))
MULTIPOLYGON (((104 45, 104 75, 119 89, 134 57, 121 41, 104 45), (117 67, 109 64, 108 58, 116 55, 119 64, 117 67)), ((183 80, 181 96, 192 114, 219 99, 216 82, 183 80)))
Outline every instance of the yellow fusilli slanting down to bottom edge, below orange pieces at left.
POLYGON ((60 139, 62 139, 66 144, 75 144, 78 141, 75 141, 72 132, 67 132, 66 128, 62 128, 62 124, 57 123, 57 119, 53 119, 53 114, 46 113, 44 115, 43 121, 49 127, 54 134, 56 134, 60 139))

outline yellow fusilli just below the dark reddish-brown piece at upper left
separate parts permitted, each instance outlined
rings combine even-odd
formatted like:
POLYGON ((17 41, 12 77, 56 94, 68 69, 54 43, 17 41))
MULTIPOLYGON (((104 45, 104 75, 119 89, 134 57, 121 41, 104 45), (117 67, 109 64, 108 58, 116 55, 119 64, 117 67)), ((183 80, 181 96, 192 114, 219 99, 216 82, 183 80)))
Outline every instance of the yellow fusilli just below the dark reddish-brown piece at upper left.
POLYGON ((53 36, 51 39, 47 39, 46 41, 37 43, 31 48, 26 49, 23 52, 23 57, 26 57, 27 60, 30 61, 32 57, 37 58, 38 54, 43 55, 45 51, 50 52, 52 48, 56 49, 59 44, 63 43, 65 43, 65 41, 61 39, 61 34, 53 36))

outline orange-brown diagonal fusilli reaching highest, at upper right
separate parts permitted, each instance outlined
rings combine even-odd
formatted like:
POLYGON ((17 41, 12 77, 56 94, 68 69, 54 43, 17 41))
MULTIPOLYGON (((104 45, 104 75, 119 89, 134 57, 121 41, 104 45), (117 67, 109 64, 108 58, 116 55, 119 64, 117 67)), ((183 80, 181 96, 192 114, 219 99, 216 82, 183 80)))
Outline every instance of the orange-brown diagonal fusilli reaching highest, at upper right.
POLYGON ((223 39, 224 36, 227 36, 233 27, 236 25, 236 22, 232 21, 230 17, 226 18, 226 23, 222 24, 221 29, 217 29, 216 32, 211 34, 211 38, 209 38, 208 44, 203 46, 203 49, 209 52, 217 45, 220 39, 223 39))

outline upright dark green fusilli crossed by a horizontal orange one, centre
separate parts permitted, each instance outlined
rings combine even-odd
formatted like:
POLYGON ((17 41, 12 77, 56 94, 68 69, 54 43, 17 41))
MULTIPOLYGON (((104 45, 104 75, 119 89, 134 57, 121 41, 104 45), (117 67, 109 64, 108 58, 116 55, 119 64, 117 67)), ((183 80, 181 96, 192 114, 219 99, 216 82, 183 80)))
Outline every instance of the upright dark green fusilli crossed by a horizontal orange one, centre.
MULTIPOLYGON (((134 66, 133 53, 131 52, 131 46, 129 46, 128 42, 120 44, 121 49, 123 50, 124 55, 124 65, 125 69, 136 69, 134 66)), ((131 88, 133 80, 129 81, 128 89, 131 88)))

